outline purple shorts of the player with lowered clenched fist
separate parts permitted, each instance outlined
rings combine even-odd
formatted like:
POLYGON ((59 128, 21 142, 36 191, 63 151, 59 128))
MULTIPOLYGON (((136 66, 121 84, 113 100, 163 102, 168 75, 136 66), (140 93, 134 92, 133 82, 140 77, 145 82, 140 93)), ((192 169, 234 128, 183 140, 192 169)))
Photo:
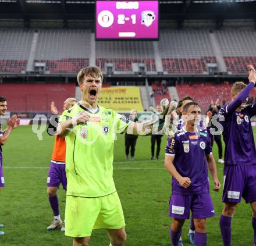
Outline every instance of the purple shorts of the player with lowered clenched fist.
POLYGON ((210 194, 172 194, 169 202, 169 216, 175 219, 189 219, 190 210, 194 219, 214 216, 214 204, 210 194))

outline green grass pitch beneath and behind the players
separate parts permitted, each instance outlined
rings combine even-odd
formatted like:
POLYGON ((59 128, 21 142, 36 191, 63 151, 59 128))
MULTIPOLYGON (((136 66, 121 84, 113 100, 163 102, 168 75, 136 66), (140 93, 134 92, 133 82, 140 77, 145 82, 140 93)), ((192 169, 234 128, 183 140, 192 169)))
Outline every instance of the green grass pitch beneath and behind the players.
MULTIPOLYGON (((256 129, 254 129, 256 130, 256 129)), ((10 245, 72 245, 72 238, 59 229, 47 231, 52 211, 47 198, 47 174, 51 160, 54 137, 44 134, 38 141, 31 126, 14 130, 3 147, 3 168, 6 186, 0 191, 0 222, 5 224, 5 236, 1 246, 10 245)), ((168 204, 170 175, 163 167, 166 137, 162 139, 161 161, 150 158, 150 137, 138 137, 133 162, 125 160, 124 136, 115 142, 114 179, 126 219, 126 246, 170 246, 168 204)), ((100 150, 99 150, 100 151, 100 150)), ((216 144, 214 156, 217 158, 216 144)), ((217 164, 219 179, 223 181, 223 165, 217 164)), ((65 192, 58 191, 61 216, 65 213, 65 192)), ((222 191, 212 191, 216 216, 207 219, 209 246, 221 246, 219 216, 222 210, 222 191)), ((232 222, 233 246, 253 245, 251 208, 241 202, 232 222)), ((187 231, 189 221, 183 227, 184 245, 189 245, 187 231)), ((108 246, 106 230, 93 231, 90 245, 108 246)))

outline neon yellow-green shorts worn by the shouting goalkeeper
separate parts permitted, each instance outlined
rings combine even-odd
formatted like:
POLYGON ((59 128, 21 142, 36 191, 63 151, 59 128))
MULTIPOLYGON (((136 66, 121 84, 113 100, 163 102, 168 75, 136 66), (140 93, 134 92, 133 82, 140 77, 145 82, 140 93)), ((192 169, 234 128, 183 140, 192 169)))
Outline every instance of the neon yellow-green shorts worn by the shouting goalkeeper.
POLYGON ((125 218, 118 192, 97 198, 67 196, 66 236, 89 237, 93 229, 120 229, 124 226, 125 218))

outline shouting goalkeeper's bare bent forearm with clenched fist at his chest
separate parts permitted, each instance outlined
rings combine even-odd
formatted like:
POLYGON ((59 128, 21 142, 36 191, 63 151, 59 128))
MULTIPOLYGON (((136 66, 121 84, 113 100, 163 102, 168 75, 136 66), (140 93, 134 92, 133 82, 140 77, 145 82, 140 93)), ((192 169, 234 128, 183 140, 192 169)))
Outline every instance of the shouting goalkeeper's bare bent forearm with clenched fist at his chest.
POLYGON ((90 119, 90 115, 86 112, 81 112, 77 117, 73 119, 68 119, 63 122, 60 122, 57 127, 57 133, 61 137, 66 137, 70 134, 70 130, 72 130, 77 124, 83 124, 88 122, 90 119))

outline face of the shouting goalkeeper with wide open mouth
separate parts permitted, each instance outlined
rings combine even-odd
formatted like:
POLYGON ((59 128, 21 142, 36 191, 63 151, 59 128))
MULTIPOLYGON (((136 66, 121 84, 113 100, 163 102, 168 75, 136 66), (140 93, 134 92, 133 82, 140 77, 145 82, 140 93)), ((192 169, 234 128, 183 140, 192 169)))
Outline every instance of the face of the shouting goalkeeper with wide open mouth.
POLYGON ((89 104, 97 104, 98 95, 101 92, 102 81, 101 78, 94 78, 90 76, 84 76, 84 81, 79 84, 79 88, 82 92, 82 99, 89 104))

